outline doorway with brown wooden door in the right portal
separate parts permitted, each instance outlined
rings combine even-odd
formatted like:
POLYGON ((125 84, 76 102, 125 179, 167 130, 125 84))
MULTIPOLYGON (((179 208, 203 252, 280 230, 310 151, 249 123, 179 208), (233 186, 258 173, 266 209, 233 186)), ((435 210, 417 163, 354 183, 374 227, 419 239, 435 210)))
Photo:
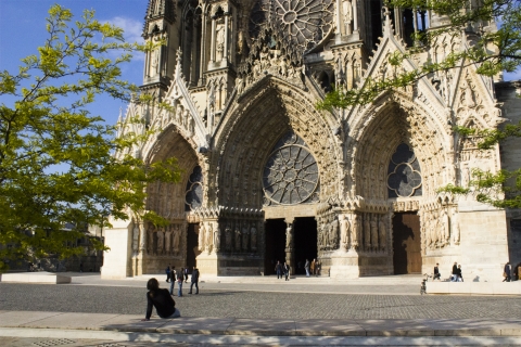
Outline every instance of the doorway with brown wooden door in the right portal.
POLYGON ((421 273, 420 217, 416 213, 394 214, 393 250, 395 274, 421 273))

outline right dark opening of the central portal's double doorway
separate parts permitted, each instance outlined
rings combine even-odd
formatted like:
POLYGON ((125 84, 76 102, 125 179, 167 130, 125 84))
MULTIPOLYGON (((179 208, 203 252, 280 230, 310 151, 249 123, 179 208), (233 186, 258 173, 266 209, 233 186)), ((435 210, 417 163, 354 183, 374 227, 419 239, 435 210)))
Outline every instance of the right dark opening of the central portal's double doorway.
POLYGON ((294 271, 304 274, 306 259, 317 258, 317 221, 314 217, 295 218, 293 224, 294 271), (298 267, 301 265, 301 267, 298 267))

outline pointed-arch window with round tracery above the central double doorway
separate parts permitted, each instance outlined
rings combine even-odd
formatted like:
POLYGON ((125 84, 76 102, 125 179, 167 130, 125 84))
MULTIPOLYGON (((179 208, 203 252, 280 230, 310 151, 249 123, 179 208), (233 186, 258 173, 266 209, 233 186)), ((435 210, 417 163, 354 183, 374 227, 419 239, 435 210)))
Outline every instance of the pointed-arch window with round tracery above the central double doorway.
POLYGON ((307 144, 293 131, 275 145, 264 167, 264 205, 318 202, 319 176, 307 144))

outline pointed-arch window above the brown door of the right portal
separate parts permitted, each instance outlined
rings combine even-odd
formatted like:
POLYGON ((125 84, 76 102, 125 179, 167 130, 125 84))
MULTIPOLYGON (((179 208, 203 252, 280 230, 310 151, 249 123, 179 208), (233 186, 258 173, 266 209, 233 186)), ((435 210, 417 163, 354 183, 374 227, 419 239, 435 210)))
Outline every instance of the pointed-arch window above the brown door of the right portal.
POLYGON ((421 196, 420 164, 406 143, 396 147, 387 169, 389 197, 421 196))

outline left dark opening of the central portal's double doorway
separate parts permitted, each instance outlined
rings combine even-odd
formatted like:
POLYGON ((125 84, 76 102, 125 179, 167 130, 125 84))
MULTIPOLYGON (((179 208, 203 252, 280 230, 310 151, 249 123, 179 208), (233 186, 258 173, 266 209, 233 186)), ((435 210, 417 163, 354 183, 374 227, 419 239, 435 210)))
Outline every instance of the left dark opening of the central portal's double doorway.
POLYGON ((274 274, 277 260, 285 261, 285 221, 283 219, 266 220, 266 254, 264 256, 264 274, 274 274))

